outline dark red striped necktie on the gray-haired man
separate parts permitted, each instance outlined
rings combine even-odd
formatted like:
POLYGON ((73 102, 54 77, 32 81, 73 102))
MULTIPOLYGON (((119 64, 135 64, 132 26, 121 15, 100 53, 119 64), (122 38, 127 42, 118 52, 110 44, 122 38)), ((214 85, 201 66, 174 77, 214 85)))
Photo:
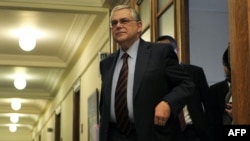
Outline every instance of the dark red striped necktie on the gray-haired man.
POLYGON ((127 82, 128 82, 128 54, 124 53, 123 65, 117 81, 115 92, 115 114, 117 128, 124 134, 131 132, 131 123, 127 107, 127 82))

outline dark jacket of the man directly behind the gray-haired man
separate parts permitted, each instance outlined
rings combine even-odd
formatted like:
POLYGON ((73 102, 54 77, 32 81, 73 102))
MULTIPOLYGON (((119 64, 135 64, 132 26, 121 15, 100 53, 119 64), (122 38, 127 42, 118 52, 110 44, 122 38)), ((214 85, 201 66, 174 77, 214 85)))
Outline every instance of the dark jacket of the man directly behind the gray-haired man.
POLYGON ((195 132, 198 134, 201 141, 211 141, 213 139, 212 131, 209 128, 208 117, 203 110, 203 106, 205 110, 211 109, 211 104, 208 101, 209 87, 205 73, 201 67, 188 64, 181 65, 191 76, 196 86, 195 93, 187 104, 195 132))

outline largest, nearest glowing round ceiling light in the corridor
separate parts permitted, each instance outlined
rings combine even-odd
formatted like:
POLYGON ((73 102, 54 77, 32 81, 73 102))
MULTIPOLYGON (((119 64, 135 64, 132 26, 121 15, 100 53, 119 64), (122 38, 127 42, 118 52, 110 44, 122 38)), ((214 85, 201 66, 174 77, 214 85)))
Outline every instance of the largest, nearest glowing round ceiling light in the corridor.
POLYGON ((30 33, 24 33, 19 38, 19 46, 24 51, 31 51, 36 46, 36 38, 30 33))

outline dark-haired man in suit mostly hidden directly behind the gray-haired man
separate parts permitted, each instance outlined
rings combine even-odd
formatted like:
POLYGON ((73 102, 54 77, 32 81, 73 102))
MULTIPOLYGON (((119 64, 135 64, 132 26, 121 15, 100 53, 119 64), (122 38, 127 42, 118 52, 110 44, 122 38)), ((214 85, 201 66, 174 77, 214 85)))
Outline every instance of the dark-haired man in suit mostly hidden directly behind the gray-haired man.
MULTIPOLYGON (((176 54, 179 53, 176 40, 172 36, 160 36, 157 41, 170 44, 176 54)), ((206 110, 211 109, 208 101, 209 87, 205 73, 199 66, 180 64, 191 76, 196 86, 192 98, 189 99, 183 109, 186 121, 186 127, 183 129, 184 139, 185 141, 211 141, 213 140, 212 131, 209 128, 208 115, 205 113, 206 110)))

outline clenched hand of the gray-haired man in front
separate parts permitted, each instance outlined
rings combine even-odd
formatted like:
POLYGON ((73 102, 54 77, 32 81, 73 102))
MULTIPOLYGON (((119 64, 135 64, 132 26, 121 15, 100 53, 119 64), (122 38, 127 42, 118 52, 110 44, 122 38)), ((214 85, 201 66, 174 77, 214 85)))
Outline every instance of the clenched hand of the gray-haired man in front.
POLYGON ((159 126, 165 126, 170 117, 170 106, 166 101, 161 101, 155 107, 155 117, 154 117, 154 124, 159 126))

